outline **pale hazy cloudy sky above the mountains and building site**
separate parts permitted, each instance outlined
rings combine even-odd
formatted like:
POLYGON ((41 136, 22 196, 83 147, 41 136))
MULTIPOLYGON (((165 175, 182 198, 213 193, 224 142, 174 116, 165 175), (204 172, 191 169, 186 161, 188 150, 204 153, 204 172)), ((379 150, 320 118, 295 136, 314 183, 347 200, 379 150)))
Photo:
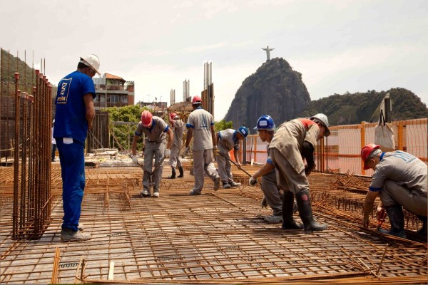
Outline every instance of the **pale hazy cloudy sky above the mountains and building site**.
MULTIPOLYGON (((284 58, 312 100, 407 88, 428 105, 426 0, 2 1, 0 47, 46 63, 51 83, 94 53, 101 73, 135 82, 136 102, 203 90, 212 62, 215 120, 266 61, 284 58)), ((36 66, 37 67, 37 66, 36 66)))

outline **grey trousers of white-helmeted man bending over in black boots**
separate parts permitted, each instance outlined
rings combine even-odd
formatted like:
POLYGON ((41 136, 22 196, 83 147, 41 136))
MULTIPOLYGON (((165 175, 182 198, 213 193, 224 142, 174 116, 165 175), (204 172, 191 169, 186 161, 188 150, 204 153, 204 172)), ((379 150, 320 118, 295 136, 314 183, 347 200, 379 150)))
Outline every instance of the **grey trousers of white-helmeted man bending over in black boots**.
POLYGON ((309 191, 309 182, 305 170, 297 173, 290 162, 276 148, 272 148, 269 153, 277 171, 277 185, 282 191, 290 191, 295 195, 305 190, 309 191))

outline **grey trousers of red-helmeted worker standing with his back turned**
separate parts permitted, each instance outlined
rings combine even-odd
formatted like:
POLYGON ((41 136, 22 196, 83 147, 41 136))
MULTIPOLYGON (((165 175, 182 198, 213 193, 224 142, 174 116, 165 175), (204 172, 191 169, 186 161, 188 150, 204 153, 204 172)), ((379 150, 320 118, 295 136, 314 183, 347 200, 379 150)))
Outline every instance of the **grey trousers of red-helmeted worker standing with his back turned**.
POLYGON ((218 176, 213 163, 212 148, 208 150, 193 150, 193 176, 195 177, 195 187, 193 187, 193 191, 202 191, 204 172, 213 181, 215 177, 218 176))

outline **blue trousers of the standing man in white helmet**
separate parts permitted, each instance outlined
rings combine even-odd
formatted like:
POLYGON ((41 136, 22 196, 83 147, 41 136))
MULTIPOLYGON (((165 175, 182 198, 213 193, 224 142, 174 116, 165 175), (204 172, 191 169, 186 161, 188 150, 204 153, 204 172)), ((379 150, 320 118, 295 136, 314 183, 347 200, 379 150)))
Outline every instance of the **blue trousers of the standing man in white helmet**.
POLYGON ((56 146, 58 147, 63 180, 64 217, 62 228, 72 229, 76 232, 81 215, 83 190, 85 190, 84 146, 76 140, 66 145, 62 138, 56 140, 56 146))

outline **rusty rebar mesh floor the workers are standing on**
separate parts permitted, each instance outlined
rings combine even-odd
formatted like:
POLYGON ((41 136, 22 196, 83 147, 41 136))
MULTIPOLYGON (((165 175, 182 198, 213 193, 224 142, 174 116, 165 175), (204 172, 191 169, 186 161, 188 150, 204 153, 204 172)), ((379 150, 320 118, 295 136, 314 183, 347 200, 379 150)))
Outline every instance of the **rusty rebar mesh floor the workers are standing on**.
POLYGON ((55 199, 51 224, 40 240, 14 242, 8 229, 1 229, 0 283, 46 284, 55 270, 59 283, 428 281, 427 244, 387 239, 362 229, 352 215, 326 212, 326 205, 317 203, 312 205, 315 216, 329 224, 327 230, 285 231, 280 224, 263 222, 262 216, 272 212, 260 209, 258 187, 215 192, 206 178, 203 195, 190 196, 193 176, 185 175, 163 179, 159 198, 142 198, 139 187, 129 197, 86 194, 81 222, 92 236, 86 242, 60 242, 61 197, 55 199))

